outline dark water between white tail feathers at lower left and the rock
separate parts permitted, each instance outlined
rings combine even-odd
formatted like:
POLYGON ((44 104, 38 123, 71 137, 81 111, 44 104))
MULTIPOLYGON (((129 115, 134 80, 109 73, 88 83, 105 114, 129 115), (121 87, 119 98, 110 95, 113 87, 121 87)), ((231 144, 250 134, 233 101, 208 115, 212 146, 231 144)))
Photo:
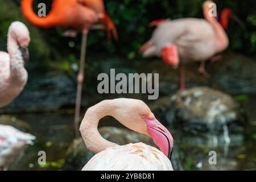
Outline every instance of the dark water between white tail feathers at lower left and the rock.
POLYGON ((9 169, 60 170, 65 152, 75 138, 73 114, 24 114, 17 117, 28 122, 36 141, 34 146, 29 146, 9 169), (38 164, 39 151, 46 152, 46 166, 38 164))

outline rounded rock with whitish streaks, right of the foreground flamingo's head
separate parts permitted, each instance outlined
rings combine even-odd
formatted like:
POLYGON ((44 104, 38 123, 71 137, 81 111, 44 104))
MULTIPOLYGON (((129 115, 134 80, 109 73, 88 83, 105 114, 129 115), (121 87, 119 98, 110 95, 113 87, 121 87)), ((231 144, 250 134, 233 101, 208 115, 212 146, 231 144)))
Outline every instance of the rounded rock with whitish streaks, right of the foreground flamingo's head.
POLYGON ((162 122, 185 131, 186 134, 242 133, 245 116, 241 107, 225 93, 207 87, 177 92, 150 106, 162 122))

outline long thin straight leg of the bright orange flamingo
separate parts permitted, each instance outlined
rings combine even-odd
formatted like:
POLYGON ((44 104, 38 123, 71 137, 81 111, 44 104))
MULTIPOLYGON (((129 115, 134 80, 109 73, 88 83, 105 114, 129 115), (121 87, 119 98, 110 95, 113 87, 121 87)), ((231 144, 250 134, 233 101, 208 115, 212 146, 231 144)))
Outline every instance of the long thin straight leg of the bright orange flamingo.
POLYGON ((82 97, 82 83, 84 82, 84 65, 86 56, 86 44, 88 37, 88 29, 82 32, 82 46, 81 46, 81 56, 80 56, 80 68, 77 75, 77 93, 76 93, 76 109, 75 109, 75 132, 76 137, 80 136, 79 133, 79 117, 81 109, 81 97, 82 97))

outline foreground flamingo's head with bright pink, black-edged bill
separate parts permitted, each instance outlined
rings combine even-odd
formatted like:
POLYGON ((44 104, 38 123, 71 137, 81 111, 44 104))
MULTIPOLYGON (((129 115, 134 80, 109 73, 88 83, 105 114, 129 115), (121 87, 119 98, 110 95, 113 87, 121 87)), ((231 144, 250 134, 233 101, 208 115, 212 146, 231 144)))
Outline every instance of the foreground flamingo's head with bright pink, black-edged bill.
POLYGON ((117 100, 120 104, 115 112, 115 118, 129 129, 150 136, 160 151, 171 159, 174 139, 166 127, 155 118, 149 107, 141 100, 117 100))

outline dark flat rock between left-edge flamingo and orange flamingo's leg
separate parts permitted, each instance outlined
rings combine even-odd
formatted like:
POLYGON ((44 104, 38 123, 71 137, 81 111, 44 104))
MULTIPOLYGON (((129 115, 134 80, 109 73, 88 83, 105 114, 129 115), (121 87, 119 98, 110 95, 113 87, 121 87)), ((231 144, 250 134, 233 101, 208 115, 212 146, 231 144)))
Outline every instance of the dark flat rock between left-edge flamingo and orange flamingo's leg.
POLYGON ((68 76, 31 76, 23 92, 0 113, 46 112, 74 105, 76 86, 68 76))

